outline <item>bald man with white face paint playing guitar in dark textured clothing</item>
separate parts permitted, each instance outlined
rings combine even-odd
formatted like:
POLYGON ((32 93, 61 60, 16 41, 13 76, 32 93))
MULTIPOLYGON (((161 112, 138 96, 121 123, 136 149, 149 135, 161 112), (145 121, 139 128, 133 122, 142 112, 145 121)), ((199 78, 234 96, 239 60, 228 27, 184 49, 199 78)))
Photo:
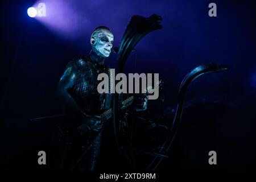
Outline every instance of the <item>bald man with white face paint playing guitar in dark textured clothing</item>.
MULTIPOLYGON (((99 157, 102 123, 96 115, 110 109, 112 94, 97 92, 97 76, 106 73, 110 78, 110 68, 104 62, 112 51, 113 41, 114 35, 108 27, 97 27, 90 36, 92 50, 89 55, 70 61, 57 87, 57 95, 64 102, 70 124, 85 123, 86 127, 82 127, 81 135, 88 130, 100 131, 76 164, 75 169, 80 171, 94 170, 99 157)), ((142 108, 138 107, 138 110, 146 109, 147 97, 143 101, 142 108)), ((67 158, 71 155, 72 153, 66 154, 67 158)))

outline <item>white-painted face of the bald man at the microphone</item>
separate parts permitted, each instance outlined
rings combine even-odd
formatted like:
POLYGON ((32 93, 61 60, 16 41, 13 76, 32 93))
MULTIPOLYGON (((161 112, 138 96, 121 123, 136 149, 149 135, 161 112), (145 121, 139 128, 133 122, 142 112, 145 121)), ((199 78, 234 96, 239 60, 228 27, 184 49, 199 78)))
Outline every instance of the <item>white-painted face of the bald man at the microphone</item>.
POLYGON ((113 47, 114 36, 112 32, 104 29, 98 30, 91 39, 92 49, 102 57, 109 57, 113 47))

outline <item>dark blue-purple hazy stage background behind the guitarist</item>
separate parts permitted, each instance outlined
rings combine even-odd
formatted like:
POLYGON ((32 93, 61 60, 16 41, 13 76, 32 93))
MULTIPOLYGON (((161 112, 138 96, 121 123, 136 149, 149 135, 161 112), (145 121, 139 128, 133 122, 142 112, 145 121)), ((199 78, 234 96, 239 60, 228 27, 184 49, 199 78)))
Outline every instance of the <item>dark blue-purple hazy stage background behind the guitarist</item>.
MULTIPOLYGON (((136 72, 154 68, 167 79, 164 107, 176 105, 180 82, 197 65, 212 61, 230 67, 228 72, 201 77, 190 86, 187 100, 217 96, 221 102, 199 103, 184 110, 170 160, 161 169, 255 169, 253 1, 56 1, 61 2, 56 11, 64 5, 65 11, 62 18, 49 20, 50 24, 27 15, 27 8, 35 2, 1 2, 1 169, 47 169, 38 166, 37 154, 48 152, 55 124, 30 119, 62 113, 55 90, 68 61, 89 53, 95 27, 110 27, 118 46, 132 15, 154 13, 162 16, 163 28, 137 45, 136 72), (217 4, 217 17, 208 16, 210 2, 217 4), (66 20, 66 27, 57 27, 66 20), (217 152, 216 166, 208 164, 211 150, 217 152)), ((112 54, 106 64, 114 67, 115 57, 112 54)), ((134 59, 131 53, 126 72, 135 72, 134 59)), ((156 107, 154 102, 149 106, 152 119, 159 113, 156 107)), ((106 144, 105 148, 102 156, 108 158, 112 149, 106 144)), ((108 164, 102 162, 102 169, 106 168, 108 164)))

